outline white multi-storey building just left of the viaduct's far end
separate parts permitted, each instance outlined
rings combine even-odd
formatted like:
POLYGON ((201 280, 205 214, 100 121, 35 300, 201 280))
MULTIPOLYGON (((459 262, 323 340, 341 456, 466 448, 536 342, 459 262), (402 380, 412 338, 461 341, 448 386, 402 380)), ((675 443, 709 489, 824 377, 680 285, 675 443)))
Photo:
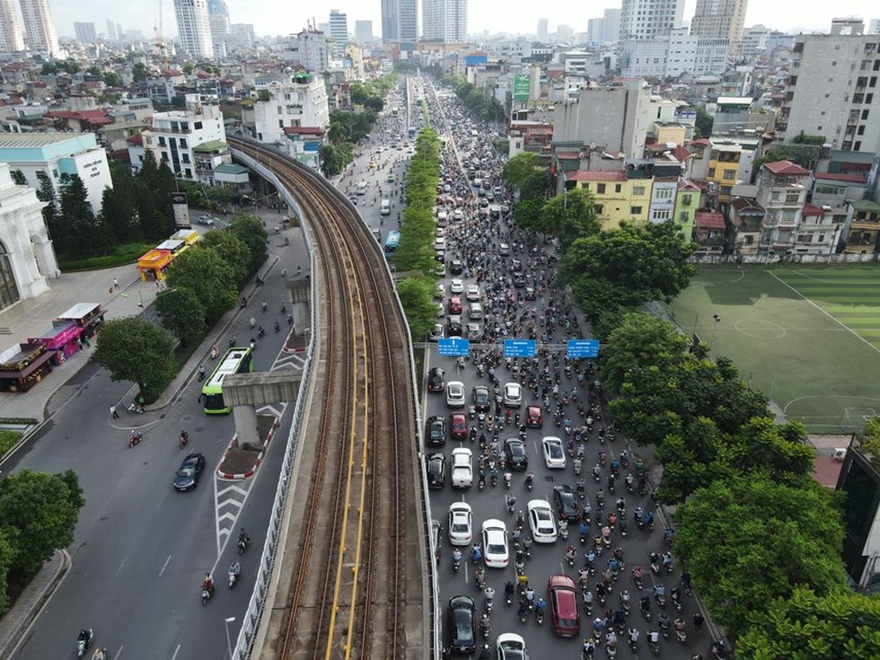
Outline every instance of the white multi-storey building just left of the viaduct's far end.
POLYGON ((167 163, 175 177, 211 185, 204 167, 197 170, 196 150, 202 145, 222 149, 219 144, 225 145, 225 140, 220 108, 200 103, 195 95, 188 95, 186 110, 153 115, 153 131, 145 138, 145 147, 154 152, 157 161, 167 163))

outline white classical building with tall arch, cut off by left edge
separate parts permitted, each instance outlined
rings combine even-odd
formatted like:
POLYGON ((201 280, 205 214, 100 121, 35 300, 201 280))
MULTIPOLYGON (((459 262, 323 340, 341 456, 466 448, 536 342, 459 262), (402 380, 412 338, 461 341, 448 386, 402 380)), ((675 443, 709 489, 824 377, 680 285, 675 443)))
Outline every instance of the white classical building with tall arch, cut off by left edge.
POLYGON ((58 263, 43 220, 45 203, 33 187, 16 185, 0 163, 0 309, 48 291, 58 263))

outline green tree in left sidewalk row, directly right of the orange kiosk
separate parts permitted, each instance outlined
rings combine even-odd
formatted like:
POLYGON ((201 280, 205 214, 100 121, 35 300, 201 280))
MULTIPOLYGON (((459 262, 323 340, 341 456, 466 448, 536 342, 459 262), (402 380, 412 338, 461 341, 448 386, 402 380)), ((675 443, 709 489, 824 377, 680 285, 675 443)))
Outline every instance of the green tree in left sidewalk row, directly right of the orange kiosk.
POLYGON ((165 278, 170 288, 190 289, 205 307, 208 325, 231 310, 238 298, 233 268, 214 250, 190 249, 172 262, 165 278))

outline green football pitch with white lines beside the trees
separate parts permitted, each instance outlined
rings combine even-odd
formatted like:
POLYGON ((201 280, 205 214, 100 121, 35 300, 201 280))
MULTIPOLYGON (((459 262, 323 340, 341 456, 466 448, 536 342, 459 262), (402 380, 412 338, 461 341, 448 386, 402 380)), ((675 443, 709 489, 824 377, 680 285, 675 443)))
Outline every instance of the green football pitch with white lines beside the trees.
POLYGON ((667 309, 811 433, 850 433, 880 415, 876 265, 701 267, 667 309))

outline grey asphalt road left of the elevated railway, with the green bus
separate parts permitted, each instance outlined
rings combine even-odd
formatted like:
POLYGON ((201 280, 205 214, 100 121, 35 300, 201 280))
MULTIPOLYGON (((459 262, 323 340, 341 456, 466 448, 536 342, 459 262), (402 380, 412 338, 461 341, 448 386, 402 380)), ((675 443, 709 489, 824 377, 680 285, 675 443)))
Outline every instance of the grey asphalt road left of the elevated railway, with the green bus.
MULTIPOLYGON (((269 272, 260 297, 233 321, 232 332, 240 342, 251 337, 246 325, 251 313, 262 315, 260 298, 282 299, 279 271, 293 258, 297 231, 287 230, 289 249, 270 236, 271 251, 281 261, 269 272)), ((267 262, 267 268, 269 263, 274 261, 267 262)), ((292 262, 287 264, 291 267, 292 262)), ((271 330, 271 320, 261 322, 268 333, 258 342, 256 371, 270 369, 279 357, 290 360, 279 356, 284 334, 271 330)), ((286 329, 285 323, 282 326, 286 329)), ((114 659, 228 657, 224 619, 240 622, 251 597, 293 406, 273 406, 284 413, 282 422, 255 477, 228 482, 214 475, 233 436, 233 418, 203 412, 198 403, 201 383, 195 378, 161 418, 149 423, 150 413, 122 413, 115 420, 108 415, 110 402, 121 399, 130 383, 112 383, 95 365, 88 365, 77 378, 84 385, 81 392, 57 412, 38 439, 4 465, 7 472, 72 469, 86 498, 75 542, 68 549, 72 568, 15 657, 72 655, 76 635, 84 627, 95 630, 97 643, 114 659), (129 448, 129 429, 141 425, 144 440, 129 448), (204 453, 207 460, 198 488, 189 493, 172 488, 174 472, 188 453, 180 451, 177 442, 181 429, 189 432, 186 449, 204 453), (242 579, 230 592, 226 568, 239 559, 234 541, 240 526, 251 533, 251 547, 241 558, 242 579), (233 542, 227 543, 230 535, 233 542), (207 571, 214 574, 217 588, 203 607, 199 585, 207 571)), ((238 625, 229 626, 233 638, 238 625)))

